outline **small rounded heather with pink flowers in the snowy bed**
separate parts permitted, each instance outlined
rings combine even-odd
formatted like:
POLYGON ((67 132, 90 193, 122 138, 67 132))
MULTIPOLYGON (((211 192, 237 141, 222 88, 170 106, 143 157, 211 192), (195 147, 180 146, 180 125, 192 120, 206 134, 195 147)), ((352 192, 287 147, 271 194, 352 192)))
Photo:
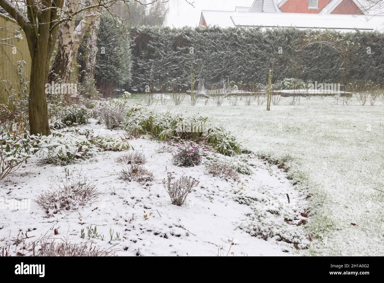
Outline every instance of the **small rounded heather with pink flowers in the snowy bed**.
POLYGON ((173 155, 174 165, 190 167, 201 163, 205 149, 200 148, 193 141, 184 141, 184 143, 176 144, 175 147, 176 152, 173 155))

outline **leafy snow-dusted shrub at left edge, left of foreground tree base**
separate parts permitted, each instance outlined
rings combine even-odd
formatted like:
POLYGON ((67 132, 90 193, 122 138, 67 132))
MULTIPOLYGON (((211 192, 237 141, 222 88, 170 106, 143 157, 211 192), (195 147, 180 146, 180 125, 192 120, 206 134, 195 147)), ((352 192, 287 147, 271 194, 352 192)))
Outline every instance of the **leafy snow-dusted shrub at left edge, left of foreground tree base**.
POLYGON ((33 147, 33 138, 27 133, 12 135, 0 132, 0 180, 15 172, 22 163, 27 163, 38 150, 33 147))

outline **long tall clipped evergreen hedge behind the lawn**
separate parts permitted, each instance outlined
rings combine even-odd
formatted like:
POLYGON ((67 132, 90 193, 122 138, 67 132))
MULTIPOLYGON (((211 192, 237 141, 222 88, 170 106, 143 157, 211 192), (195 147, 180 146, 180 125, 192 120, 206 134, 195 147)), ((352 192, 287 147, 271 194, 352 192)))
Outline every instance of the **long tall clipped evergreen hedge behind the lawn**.
POLYGON ((136 27, 131 37, 132 92, 144 92, 146 85, 165 90, 162 84, 185 91, 191 73, 196 83, 204 79, 206 85, 228 80, 265 85, 269 69, 273 82, 382 83, 384 74, 384 35, 379 32, 136 27))

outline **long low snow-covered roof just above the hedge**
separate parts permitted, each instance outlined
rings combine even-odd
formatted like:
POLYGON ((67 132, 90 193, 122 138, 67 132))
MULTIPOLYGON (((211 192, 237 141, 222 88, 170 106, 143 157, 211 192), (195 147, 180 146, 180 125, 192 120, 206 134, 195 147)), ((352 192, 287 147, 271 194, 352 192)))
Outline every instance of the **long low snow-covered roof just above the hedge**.
POLYGON ((257 12, 226 12, 202 11, 200 25, 203 20, 207 25, 219 27, 296 27, 334 29, 338 31, 359 30, 384 31, 384 16, 377 15, 331 15, 331 14, 306 14, 306 13, 257 13, 257 12))

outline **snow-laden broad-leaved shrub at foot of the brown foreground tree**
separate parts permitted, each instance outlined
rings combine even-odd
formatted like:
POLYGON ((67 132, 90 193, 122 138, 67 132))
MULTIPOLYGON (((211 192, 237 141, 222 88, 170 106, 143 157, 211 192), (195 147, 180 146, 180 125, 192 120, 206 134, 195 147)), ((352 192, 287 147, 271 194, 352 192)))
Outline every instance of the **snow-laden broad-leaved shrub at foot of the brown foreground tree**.
POLYGON ((79 158, 87 158, 98 153, 92 139, 81 139, 73 133, 52 132, 49 136, 35 139, 34 145, 39 148, 39 157, 47 157, 48 161, 69 162, 79 158))

